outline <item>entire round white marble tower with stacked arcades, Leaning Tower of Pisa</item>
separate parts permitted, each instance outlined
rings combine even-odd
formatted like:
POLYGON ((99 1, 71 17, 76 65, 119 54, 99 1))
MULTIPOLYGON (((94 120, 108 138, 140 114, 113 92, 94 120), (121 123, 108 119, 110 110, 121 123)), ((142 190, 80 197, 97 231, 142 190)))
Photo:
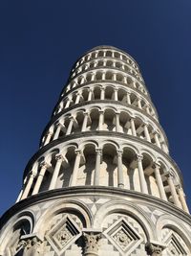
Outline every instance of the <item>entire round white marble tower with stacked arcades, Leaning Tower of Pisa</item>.
POLYGON ((191 255, 191 218, 138 64, 111 46, 74 63, 1 218, 2 256, 191 255))

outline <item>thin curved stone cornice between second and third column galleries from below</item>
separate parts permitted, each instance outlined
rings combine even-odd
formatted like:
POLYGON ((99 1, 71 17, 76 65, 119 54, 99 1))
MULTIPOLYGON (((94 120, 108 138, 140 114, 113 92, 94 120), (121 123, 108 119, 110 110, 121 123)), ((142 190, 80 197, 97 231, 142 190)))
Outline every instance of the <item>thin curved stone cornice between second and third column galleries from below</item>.
POLYGON ((87 101, 87 102, 83 102, 83 103, 80 103, 80 104, 76 104, 76 105, 72 105, 70 107, 67 107, 66 109, 62 110, 61 112, 59 112, 58 114, 56 114, 55 116, 52 116, 52 119, 51 121, 48 123, 48 125, 44 128, 43 132, 42 132, 42 135, 40 137, 40 142, 42 141, 42 138, 44 136, 44 133, 48 130, 48 128, 51 127, 51 125, 53 125, 53 122, 55 122, 61 115, 67 113, 68 111, 72 110, 72 109, 75 109, 76 107, 79 107, 79 106, 83 106, 83 105, 91 105, 91 104, 113 104, 113 105, 123 105, 123 106, 126 106, 126 107, 130 107, 138 112, 140 112, 141 114, 145 115, 146 117, 148 117, 150 120, 152 120, 156 126, 159 128, 159 130, 162 132, 163 136, 164 136, 164 139, 165 139, 165 142, 168 145, 168 139, 166 137, 166 134, 165 134, 165 131, 163 130, 163 128, 159 125, 159 122, 153 118, 151 115, 147 114, 146 111, 143 111, 141 110, 140 108, 138 108, 137 106, 134 106, 134 105, 126 105, 126 104, 123 104, 122 102, 117 102, 117 101, 113 101, 113 100, 94 100, 94 101, 87 101))

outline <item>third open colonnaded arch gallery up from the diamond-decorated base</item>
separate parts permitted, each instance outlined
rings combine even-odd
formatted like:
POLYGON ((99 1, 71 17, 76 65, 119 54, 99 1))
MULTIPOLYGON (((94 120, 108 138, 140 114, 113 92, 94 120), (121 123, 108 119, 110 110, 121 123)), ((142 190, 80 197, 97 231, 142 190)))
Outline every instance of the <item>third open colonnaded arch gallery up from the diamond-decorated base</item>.
POLYGON ((55 106, 53 115, 72 105, 96 100, 114 100, 125 105, 133 105, 145 111, 153 118, 158 119, 153 105, 147 99, 140 96, 137 91, 122 85, 114 86, 113 84, 92 84, 91 86, 84 86, 74 90, 55 106))

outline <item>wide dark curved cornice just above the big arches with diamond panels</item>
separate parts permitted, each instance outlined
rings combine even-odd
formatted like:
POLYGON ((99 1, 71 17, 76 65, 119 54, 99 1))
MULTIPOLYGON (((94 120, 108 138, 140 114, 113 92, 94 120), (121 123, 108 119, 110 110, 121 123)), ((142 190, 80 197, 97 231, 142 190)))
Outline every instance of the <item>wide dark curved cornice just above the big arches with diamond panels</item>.
POLYGON ((90 197, 90 196, 109 196, 114 199, 114 197, 122 198, 133 198, 136 204, 146 201, 153 207, 157 207, 168 213, 170 215, 176 216, 182 221, 186 221, 189 225, 191 224, 191 216, 185 213, 183 210, 175 206, 174 204, 164 201, 160 198, 156 198, 151 195, 145 195, 136 191, 125 190, 115 187, 103 187, 103 186, 76 186, 55 189, 51 191, 41 192, 29 198, 23 199, 15 203, 0 219, 0 229, 3 225, 11 219, 13 215, 19 211, 24 210, 26 207, 33 205, 34 203, 40 203, 43 200, 53 199, 53 198, 67 198, 70 200, 70 197, 79 198, 79 197, 90 197), (77 195, 77 196, 76 196, 77 195))

